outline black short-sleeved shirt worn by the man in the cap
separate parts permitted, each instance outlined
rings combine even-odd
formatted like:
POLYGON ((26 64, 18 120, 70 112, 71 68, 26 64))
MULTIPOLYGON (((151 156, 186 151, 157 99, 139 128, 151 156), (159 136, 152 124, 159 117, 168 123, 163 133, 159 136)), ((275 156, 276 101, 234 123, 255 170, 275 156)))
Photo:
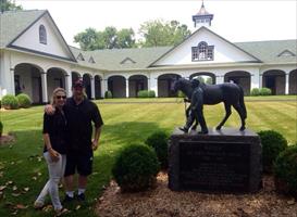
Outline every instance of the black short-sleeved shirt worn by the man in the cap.
POLYGON ((98 128, 103 125, 98 106, 85 99, 76 104, 73 98, 67 99, 64 105, 67 119, 70 151, 88 152, 91 150, 92 126, 98 128))

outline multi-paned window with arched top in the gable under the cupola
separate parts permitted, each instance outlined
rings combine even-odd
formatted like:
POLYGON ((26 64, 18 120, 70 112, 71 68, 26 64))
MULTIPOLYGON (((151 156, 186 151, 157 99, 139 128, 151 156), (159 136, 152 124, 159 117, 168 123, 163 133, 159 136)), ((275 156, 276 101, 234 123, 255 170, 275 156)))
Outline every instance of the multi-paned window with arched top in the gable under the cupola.
POLYGON ((197 47, 191 47, 191 61, 213 61, 213 46, 201 41, 197 47))

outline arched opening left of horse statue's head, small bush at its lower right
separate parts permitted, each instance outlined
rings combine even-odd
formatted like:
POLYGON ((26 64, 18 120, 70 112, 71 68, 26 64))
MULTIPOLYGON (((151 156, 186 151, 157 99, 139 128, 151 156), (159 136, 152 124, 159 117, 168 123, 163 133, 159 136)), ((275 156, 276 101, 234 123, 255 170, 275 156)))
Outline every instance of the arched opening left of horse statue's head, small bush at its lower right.
POLYGON ((148 78, 144 75, 133 75, 128 78, 129 98, 136 98, 138 91, 148 89, 148 78))

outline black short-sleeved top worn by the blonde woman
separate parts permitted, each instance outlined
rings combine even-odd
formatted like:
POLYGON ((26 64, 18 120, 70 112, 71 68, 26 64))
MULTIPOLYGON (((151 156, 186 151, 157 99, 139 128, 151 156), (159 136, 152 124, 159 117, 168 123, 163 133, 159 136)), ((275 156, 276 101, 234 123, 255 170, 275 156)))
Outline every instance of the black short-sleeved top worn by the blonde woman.
MULTIPOLYGON (((66 153, 66 118, 60 110, 53 115, 44 115, 44 133, 49 133, 50 143, 53 150, 60 154, 66 153)), ((44 152, 47 151, 45 145, 44 152)))

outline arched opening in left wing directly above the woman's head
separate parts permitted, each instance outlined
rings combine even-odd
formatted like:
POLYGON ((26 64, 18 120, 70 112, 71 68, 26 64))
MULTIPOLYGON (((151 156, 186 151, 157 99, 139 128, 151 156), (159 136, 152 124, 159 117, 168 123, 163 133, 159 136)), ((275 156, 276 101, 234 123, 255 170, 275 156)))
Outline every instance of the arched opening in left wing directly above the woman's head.
POLYGON ((65 88, 66 72, 62 68, 51 67, 47 72, 48 81, 48 99, 50 99, 52 91, 55 88, 65 88))

